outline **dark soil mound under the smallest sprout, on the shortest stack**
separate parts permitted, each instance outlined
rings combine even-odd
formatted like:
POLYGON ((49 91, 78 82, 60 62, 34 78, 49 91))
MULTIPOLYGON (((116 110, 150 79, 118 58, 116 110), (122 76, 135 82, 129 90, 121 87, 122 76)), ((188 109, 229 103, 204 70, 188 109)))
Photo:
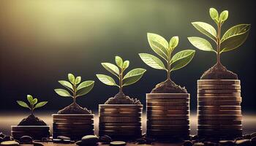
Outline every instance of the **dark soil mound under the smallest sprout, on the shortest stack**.
POLYGON ((21 120, 18 126, 46 126, 46 123, 34 115, 29 115, 29 117, 21 120))

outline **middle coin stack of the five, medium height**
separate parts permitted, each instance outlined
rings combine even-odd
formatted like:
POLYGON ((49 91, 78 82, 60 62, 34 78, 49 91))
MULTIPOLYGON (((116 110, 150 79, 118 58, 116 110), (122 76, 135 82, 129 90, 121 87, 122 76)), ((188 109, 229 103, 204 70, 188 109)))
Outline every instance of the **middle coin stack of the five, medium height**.
POLYGON ((99 136, 113 139, 135 139, 141 137, 141 104, 99 105, 99 136))

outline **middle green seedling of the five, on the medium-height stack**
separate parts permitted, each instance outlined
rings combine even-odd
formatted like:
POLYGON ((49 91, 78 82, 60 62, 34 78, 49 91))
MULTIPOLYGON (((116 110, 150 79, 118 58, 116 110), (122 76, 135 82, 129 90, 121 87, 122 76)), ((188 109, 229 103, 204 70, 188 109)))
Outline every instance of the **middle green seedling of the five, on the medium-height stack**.
POLYGON ((96 74, 98 79, 105 83, 106 85, 115 85, 119 88, 120 92, 123 92, 123 87, 127 85, 132 85, 143 76, 146 69, 132 69, 131 71, 127 72, 124 75, 124 71, 129 67, 129 61, 123 61, 123 59, 119 56, 116 56, 116 65, 110 63, 102 63, 102 66, 108 70, 111 74, 114 74, 117 78, 119 83, 116 84, 116 81, 105 74, 96 74))

